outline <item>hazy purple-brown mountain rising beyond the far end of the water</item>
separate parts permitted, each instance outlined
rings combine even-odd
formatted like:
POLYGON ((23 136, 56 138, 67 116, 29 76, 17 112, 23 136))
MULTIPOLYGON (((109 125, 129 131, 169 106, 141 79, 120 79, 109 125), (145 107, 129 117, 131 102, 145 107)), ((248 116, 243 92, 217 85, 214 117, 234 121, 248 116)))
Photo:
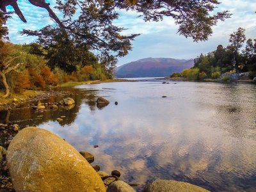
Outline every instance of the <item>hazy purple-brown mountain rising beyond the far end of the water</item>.
POLYGON ((194 66, 194 60, 175 60, 172 58, 145 58, 132 61, 115 70, 115 77, 166 77, 173 72, 194 66))

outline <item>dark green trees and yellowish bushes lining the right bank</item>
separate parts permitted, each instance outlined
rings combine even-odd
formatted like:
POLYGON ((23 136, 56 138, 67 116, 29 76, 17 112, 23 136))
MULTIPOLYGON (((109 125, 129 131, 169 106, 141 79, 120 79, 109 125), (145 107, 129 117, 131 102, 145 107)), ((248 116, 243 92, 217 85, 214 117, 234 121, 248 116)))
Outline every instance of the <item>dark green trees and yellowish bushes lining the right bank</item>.
POLYGON ((244 32, 243 28, 237 29, 230 35, 230 45, 218 45, 215 51, 200 54, 194 60, 194 67, 173 73, 170 77, 185 77, 188 81, 222 77, 224 81, 228 81, 225 74, 248 72, 248 78, 253 79, 256 76, 256 39, 246 40, 244 32))

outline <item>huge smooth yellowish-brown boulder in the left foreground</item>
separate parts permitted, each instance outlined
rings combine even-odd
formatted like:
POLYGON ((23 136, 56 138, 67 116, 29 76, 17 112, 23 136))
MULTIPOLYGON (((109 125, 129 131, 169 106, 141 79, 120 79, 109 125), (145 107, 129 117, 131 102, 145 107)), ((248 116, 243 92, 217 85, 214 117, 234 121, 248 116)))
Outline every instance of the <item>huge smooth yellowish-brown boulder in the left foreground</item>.
POLYGON ((86 159, 44 129, 22 129, 8 147, 7 164, 15 191, 106 191, 86 159))

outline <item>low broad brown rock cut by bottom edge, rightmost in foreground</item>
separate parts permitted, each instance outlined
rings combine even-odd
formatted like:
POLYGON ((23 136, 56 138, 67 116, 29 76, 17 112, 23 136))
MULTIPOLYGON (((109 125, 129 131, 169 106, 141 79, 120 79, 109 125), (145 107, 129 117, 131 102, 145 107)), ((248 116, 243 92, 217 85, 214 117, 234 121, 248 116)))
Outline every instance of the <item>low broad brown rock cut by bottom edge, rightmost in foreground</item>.
POLYGON ((194 186, 193 184, 189 184, 187 182, 180 182, 176 180, 162 180, 157 179, 151 184, 147 185, 144 189, 145 192, 174 192, 174 191, 198 191, 198 192, 206 192, 208 190, 200 188, 198 186, 194 186))

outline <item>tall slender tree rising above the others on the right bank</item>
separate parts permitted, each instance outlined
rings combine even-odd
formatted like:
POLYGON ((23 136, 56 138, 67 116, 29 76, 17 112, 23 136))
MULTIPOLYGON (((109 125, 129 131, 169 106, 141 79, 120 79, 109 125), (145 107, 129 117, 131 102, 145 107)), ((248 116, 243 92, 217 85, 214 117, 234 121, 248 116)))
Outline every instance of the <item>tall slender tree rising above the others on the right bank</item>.
POLYGON ((232 46, 234 46, 234 67, 236 69, 236 72, 239 72, 238 51, 243 46, 243 43, 246 40, 244 32, 245 29, 238 28, 237 31, 232 33, 229 38, 229 42, 231 43, 232 46))

